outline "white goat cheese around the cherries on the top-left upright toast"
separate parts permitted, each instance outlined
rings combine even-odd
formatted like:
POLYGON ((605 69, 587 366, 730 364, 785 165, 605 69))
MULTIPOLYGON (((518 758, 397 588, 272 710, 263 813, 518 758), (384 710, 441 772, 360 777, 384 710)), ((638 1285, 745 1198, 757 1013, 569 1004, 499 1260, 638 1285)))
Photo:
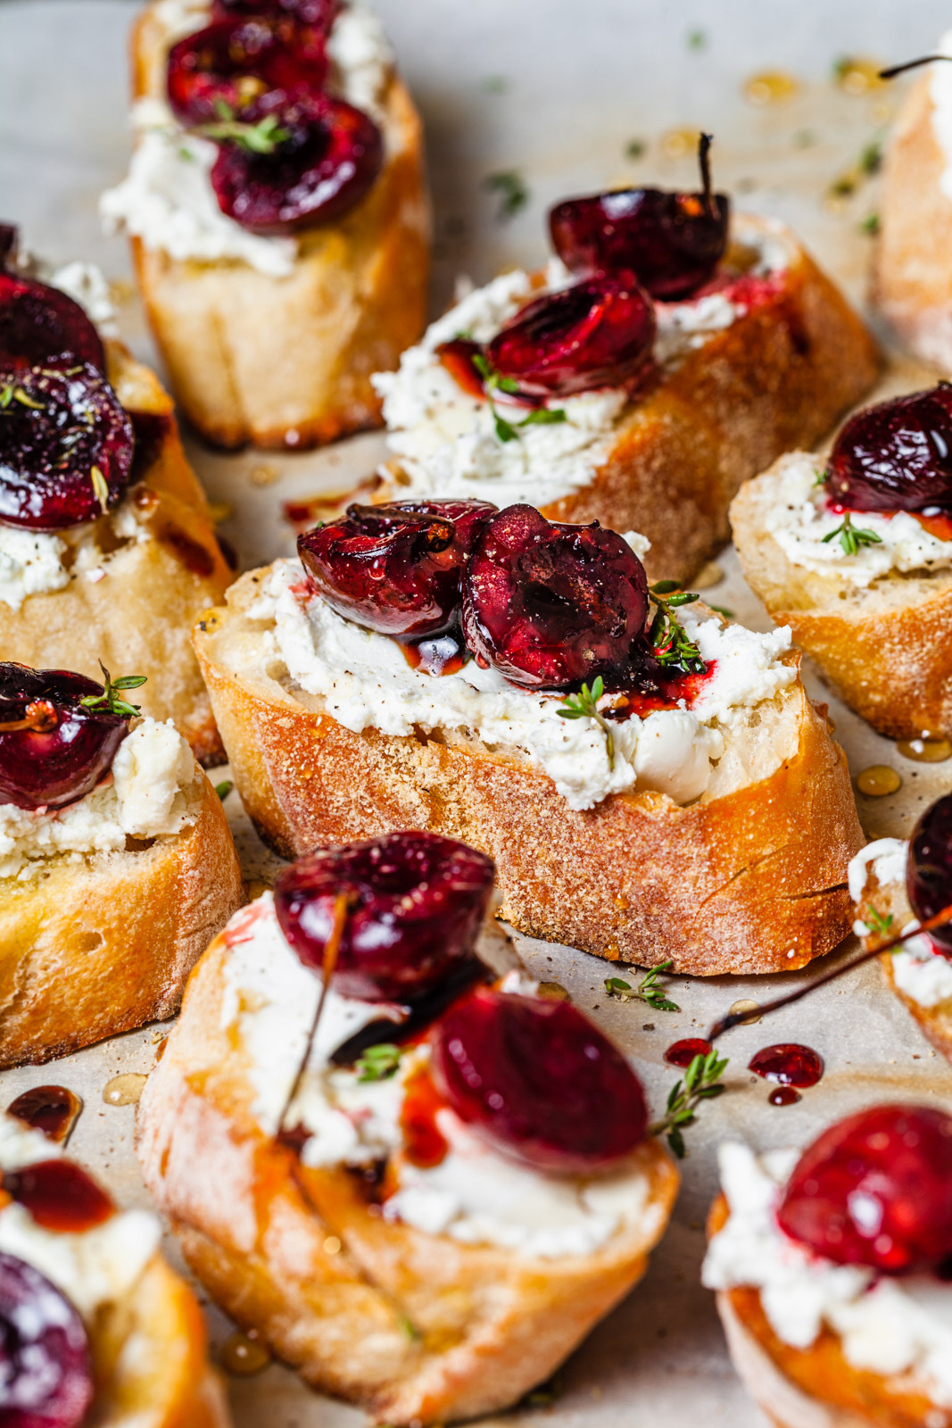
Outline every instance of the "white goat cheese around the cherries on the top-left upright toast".
MULTIPOLYGON (((157 19, 166 24, 171 46, 207 23, 208 7, 164 0, 157 19)), ((381 109, 394 57, 374 11, 363 4, 344 7, 327 53, 340 94, 383 124, 387 144, 395 143, 381 109)), ((158 97, 138 100, 133 124, 137 143, 128 174, 100 198, 107 233, 124 228, 150 251, 167 253, 180 263, 237 260, 273 278, 294 270, 297 238, 250 233, 218 207, 211 187, 218 154, 214 143, 187 133, 158 97)))

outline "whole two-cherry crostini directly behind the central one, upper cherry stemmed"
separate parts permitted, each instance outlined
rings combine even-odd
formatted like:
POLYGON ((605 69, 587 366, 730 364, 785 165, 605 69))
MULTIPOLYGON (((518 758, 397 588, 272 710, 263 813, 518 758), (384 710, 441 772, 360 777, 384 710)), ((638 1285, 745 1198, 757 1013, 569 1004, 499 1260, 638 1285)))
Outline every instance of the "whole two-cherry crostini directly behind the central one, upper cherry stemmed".
POLYGON ((688 580, 741 483, 866 391, 872 340, 786 228, 728 227, 721 194, 568 200, 551 230, 544 274, 470 293, 374 378, 381 494, 638 530, 652 578, 688 580))

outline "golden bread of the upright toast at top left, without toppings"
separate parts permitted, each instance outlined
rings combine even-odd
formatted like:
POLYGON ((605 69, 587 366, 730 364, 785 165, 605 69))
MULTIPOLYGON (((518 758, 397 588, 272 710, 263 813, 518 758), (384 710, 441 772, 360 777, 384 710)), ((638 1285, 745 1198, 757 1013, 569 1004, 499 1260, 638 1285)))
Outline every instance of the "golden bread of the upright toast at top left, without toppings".
MULTIPOLYGON (((133 93, 166 96, 157 0, 133 30, 133 93)), ((430 207, 420 117, 394 77, 387 157, 370 193, 300 234, 288 277, 237 260, 180 261, 133 238, 146 313, 188 420, 217 446, 303 447, 380 424, 370 374, 422 331, 430 207)))

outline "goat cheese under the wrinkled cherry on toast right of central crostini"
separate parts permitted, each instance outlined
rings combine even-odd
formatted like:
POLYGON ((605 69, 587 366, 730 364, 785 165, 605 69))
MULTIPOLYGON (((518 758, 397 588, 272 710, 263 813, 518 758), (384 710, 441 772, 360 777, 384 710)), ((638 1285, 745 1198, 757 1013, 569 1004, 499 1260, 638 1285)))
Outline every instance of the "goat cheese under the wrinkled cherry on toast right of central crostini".
POLYGON ((826 493, 816 484, 824 463, 806 451, 795 451, 781 461, 776 503, 768 511, 764 528, 774 537, 786 558, 818 575, 836 575, 851 585, 866 588, 892 571, 932 571, 952 565, 952 540, 939 540, 923 530, 908 511, 881 516, 855 511, 858 530, 872 531, 879 540, 846 554, 839 537, 832 534, 844 517, 826 508, 826 493), (832 536, 831 540, 826 540, 832 536))

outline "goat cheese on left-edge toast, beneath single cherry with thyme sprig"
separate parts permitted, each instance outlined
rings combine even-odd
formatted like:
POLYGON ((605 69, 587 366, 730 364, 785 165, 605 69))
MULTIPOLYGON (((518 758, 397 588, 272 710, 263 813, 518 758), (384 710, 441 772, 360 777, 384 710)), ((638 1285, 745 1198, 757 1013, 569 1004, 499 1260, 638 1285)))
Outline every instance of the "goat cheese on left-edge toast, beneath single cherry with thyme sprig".
POLYGON ((0 878, 29 878, 44 860, 118 853, 126 838, 181 833, 198 817, 201 774, 171 720, 144 718, 126 735, 111 778, 64 808, 0 804, 0 878))

